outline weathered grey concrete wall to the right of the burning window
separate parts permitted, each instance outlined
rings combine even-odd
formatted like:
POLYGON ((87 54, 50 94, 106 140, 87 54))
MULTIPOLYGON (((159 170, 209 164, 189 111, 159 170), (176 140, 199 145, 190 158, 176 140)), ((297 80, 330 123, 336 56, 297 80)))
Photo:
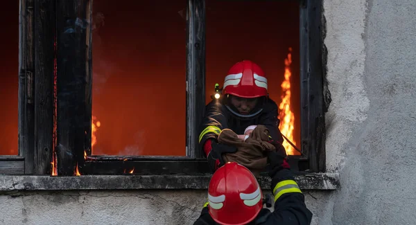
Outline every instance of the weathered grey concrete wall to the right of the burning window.
POLYGON ((327 0, 327 163, 319 224, 416 224, 416 1, 327 0))

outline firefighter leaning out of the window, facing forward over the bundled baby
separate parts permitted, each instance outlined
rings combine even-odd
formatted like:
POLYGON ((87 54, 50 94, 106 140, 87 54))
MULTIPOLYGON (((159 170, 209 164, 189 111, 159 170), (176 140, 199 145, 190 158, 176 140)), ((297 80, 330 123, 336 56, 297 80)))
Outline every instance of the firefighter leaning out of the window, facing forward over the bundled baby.
POLYGON ((243 134, 250 125, 265 125, 272 141, 283 142, 277 128, 277 105, 268 98, 267 78, 260 66, 243 60, 229 69, 221 95, 216 93, 216 98, 206 106, 202 119, 200 149, 213 172, 224 165, 222 154, 237 151, 235 146, 218 144, 221 130, 228 128, 236 134, 243 134))

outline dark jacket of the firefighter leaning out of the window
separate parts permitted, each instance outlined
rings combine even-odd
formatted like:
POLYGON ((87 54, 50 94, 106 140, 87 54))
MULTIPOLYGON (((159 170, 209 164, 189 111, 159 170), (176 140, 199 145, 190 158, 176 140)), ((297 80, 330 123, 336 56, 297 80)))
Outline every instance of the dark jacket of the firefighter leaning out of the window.
MULTIPOLYGON (((209 138, 217 140, 221 130, 232 129, 236 134, 243 134, 245 128, 250 125, 265 125, 270 133, 270 137, 283 143, 283 137, 278 129, 279 119, 277 118, 277 105, 270 98, 263 103, 261 112, 257 116, 248 119, 240 119, 233 116, 232 112, 225 105, 218 101, 212 100, 205 107, 205 116, 202 118, 200 127, 199 145, 203 149, 205 141, 209 138)), ((206 156, 206 154, 204 154, 206 156)))

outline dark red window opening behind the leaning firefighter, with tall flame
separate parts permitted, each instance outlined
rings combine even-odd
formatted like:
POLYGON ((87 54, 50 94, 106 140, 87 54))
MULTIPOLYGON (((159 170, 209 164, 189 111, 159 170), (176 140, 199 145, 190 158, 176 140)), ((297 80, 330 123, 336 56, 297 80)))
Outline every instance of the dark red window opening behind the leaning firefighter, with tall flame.
MULTIPOLYGON (((286 124, 281 121, 282 134, 300 147, 299 3, 213 0, 207 1, 206 6, 206 102, 211 101, 214 84, 223 86, 232 65, 252 60, 266 73, 270 98, 280 108, 288 107, 287 115, 294 119, 286 124), (283 89, 289 48, 291 64, 286 71, 288 81, 285 84, 291 85, 290 89, 283 89), (283 102, 282 96, 288 94, 290 100, 283 102), (283 125, 294 129, 286 131, 283 125)), ((283 114, 280 117, 283 118, 283 114)), ((298 154, 287 141, 284 145, 288 154, 298 154)))

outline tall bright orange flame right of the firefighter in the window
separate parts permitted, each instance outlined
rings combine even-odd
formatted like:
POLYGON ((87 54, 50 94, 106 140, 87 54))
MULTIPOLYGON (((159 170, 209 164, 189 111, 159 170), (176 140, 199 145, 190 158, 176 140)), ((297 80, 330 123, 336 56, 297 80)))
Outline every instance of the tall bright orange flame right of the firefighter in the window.
MULTIPOLYGON (((289 48, 288 57, 284 60, 284 81, 281 83, 283 94, 281 96, 281 102, 279 105, 279 109, 281 111, 279 116, 279 129, 281 134, 286 136, 286 138, 288 138, 293 143, 293 145, 296 145, 295 141, 293 141, 293 125, 295 123, 295 114, 293 114, 293 111, 291 111, 291 52, 292 48, 289 48)), ((284 141, 283 146, 286 149, 286 154, 288 155, 300 154, 300 152, 297 152, 295 148, 293 148, 293 146, 288 143, 288 141, 284 141)))

